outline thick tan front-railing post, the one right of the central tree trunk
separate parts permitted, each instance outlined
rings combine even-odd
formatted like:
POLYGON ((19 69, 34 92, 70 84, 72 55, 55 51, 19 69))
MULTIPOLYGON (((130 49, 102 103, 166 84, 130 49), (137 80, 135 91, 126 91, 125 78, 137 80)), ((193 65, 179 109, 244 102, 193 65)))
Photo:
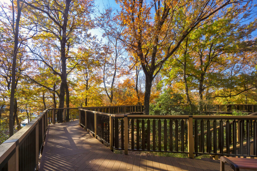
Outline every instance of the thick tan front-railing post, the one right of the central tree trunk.
POLYGON ((188 117, 188 157, 194 158, 193 116, 188 117))

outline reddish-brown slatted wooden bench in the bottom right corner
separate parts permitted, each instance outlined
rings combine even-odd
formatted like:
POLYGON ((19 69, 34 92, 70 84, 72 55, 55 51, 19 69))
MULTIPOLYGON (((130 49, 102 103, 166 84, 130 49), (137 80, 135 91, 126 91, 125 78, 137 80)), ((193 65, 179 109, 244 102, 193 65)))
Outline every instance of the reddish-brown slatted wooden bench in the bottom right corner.
POLYGON ((236 157, 224 157, 221 156, 221 171, 224 171, 224 164, 227 163, 235 171, 239 169, 257 170, 257 159, 253 158, 236 158, 236 157))

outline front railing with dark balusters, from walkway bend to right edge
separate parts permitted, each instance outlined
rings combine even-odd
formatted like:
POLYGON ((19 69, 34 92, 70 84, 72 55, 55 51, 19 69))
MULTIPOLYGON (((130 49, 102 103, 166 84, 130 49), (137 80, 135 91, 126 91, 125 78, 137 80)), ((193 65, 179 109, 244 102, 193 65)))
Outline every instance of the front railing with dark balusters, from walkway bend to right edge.
POLYGON ((189 157, 257 157, 257 116, 112 115, 79 111, 82 127, 109 144, 111 150, 124 150, 125 154, 137 150, 186 153, 189 157))

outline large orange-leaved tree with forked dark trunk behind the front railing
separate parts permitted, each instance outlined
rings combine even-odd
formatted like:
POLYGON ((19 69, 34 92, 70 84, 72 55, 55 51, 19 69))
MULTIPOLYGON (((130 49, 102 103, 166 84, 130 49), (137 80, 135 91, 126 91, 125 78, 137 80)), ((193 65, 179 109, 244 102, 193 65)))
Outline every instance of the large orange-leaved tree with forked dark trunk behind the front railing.
POLYGON ((188 34, 203 22, 235 12, 245 1, 118 2, 122 10, 114 19, 125 25, 118 38, 140 59, 146 80, 144 114, 148 115, 152 81, 188 34))

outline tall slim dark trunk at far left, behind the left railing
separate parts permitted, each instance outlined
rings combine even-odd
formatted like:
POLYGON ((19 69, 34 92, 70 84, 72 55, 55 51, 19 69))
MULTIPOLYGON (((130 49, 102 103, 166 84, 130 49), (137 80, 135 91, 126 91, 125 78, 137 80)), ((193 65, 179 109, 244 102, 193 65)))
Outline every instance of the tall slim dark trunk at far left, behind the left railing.
MULTIPOLYGON (((13 60, 12 60, 12 83, 11 83, 11 94, 10 94, 10 113, 9 113, 9 136, 13 135, 13 112, 14 112, 14 95, 15 95, 15 78, 16 78, 16 59, 17 59, 17 51, 18 51, 18 35, 19 35, 19 25, 21 18, 21 9, 20 0, 17 0, 17 18, 15 23, 14 30, 14 47, 13 47, 13 60)), ((14 13, 14 12, 13 12, 14 13)), ((13 16, 13 24, 14 24, 14 16, 13 16)), ((13 25, 14 27, 14 25, 13 25)))

